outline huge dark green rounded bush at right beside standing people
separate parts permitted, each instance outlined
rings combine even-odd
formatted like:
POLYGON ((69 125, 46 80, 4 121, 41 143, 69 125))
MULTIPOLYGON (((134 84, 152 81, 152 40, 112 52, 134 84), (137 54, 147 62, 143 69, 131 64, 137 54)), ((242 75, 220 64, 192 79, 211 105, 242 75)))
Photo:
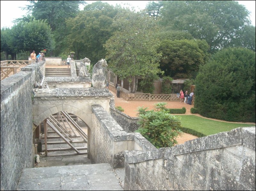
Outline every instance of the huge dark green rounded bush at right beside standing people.
POLYGON ((228 48, 213 55, 200 68, 195 94, 205 117, 255 122, 255 52, 228 48))

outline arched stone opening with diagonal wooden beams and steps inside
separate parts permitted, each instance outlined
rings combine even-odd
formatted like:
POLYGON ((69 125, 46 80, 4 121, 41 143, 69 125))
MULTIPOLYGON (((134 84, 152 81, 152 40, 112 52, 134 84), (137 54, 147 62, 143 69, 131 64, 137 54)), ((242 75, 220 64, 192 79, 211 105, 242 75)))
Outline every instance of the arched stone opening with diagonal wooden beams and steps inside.
POLYGON ((88 125, 78 116, 57 112, 37 126, 34 133, 37 152, 46 157, 87 154, 87 133, 88 125))

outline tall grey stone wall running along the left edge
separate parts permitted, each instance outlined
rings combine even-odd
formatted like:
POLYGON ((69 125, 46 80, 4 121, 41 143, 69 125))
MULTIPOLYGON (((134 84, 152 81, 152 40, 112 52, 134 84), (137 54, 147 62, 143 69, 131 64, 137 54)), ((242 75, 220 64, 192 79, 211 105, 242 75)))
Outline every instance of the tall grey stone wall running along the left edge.
POLYGON ((28 65, 1 80, 1 190, 15 190, 22 169, 34 165, 31 92, 41 66, 28 65))

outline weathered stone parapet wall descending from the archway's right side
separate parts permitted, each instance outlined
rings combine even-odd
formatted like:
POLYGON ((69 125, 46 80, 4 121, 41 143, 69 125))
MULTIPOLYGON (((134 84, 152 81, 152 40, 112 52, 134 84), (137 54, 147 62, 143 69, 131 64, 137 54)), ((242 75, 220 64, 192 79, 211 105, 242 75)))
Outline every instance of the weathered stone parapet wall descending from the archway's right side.
POLYGON ((92 163, 109 163, 113 168, 124 167, 124 151, 156 149, 140 133, 126 133, 99 105, 92 106, 90 132, 88 153, 92 163))

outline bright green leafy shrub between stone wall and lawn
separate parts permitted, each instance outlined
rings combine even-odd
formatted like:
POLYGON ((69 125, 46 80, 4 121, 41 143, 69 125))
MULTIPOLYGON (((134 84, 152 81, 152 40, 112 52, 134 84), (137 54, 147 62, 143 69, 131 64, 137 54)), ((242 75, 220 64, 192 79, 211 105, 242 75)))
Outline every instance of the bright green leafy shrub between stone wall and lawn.
POLYGON ((154 104, 157 111, 139 107, 139 129, 136 132, 141 133, 156 148, 172 147, 177 143, 176 138, 182 132, 180 118, 170 115, 164 109, 164 103, 154 104))

